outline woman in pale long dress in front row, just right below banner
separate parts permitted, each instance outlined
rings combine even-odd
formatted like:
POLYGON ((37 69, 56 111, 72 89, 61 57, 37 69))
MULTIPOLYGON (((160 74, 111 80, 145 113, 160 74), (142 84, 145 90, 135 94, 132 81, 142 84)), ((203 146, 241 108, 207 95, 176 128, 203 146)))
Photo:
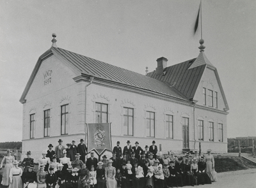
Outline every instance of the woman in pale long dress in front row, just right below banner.
POLYGON ((106 184, 107 188, 116 188, 117 182, 116 182, 116 168, 112 166, 112 159, 109 159, 108 161, 108 167, 105 168, 105 178, 106 178, 106 184))

